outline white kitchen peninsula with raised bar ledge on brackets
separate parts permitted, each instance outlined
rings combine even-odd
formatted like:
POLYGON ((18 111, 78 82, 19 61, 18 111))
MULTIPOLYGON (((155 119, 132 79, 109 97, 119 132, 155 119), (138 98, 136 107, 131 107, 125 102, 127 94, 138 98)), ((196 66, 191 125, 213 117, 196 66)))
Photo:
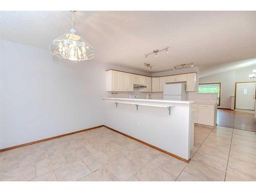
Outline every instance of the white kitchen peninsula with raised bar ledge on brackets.
POLYGON ((105 125, 180 160, 194 147, 193 101, 102 98, 105 125))

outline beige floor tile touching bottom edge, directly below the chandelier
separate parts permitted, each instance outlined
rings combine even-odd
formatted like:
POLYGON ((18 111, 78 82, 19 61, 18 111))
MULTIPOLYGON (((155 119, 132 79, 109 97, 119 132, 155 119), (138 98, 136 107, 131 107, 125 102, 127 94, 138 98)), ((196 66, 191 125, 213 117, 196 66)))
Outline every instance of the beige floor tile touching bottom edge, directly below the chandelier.
POLYGON ((78 181, 92 173, 82 160, 67 164, 54 172, 58 181, 78 181))

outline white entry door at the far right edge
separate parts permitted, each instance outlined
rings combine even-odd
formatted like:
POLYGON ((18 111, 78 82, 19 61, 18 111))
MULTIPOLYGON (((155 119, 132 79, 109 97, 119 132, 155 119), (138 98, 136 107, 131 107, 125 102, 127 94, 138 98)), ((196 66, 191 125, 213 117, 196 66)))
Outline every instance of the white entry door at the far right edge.
POLYGON ((255 82, 237 83, 236 109, 254 110, 255 82))

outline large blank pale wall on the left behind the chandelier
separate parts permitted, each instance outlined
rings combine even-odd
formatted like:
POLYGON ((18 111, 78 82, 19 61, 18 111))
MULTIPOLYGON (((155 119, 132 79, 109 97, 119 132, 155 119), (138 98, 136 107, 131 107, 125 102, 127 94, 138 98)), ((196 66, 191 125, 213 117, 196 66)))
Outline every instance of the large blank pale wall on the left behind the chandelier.
POLYGON ((105 70, 137 70, 63 60, 49 50, 0 41, 0 148, 104 124, 105 70))

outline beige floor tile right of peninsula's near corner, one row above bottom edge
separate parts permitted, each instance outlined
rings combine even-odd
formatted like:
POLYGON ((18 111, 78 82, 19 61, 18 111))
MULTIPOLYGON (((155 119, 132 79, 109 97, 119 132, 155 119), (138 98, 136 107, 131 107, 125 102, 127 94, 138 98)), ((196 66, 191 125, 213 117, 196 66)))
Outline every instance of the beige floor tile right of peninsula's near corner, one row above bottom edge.
POLYGON ((222 170, 223 172, 226 172, 227 160, 221 159, 219 157, 198 151, 194 155, 193 160, 199 161, 203 164, 209 165, 211 167, 222 170))

